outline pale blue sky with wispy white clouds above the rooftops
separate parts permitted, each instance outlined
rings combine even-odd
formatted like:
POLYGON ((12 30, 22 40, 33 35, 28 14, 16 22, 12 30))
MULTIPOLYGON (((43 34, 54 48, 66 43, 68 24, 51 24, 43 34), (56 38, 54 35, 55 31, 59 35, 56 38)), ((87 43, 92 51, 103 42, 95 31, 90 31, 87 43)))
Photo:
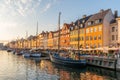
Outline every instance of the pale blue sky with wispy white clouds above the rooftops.
POLYGON ((101 9, 118 10, 119 0, 0 0, 0 40, 17 40, 38 32, 57 30, 58 14, 61 26, 101 9))

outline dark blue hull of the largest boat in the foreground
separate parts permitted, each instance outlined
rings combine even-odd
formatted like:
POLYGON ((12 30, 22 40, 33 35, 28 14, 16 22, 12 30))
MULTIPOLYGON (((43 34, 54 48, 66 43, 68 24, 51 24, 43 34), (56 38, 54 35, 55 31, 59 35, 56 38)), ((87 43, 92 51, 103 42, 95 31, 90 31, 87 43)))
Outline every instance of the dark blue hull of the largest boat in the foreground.
POLYGON ((66 60, 62 58, 55 57, 53 55, 50 55, 50 59, 52 62, 69 66, 69 67, 85 67, 86 66, 86 60, 66 60))

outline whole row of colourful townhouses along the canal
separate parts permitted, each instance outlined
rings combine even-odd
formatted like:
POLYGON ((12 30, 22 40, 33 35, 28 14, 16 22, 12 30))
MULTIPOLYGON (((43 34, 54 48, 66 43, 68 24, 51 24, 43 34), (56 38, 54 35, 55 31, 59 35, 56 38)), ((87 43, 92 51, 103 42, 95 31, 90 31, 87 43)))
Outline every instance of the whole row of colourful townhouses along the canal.
POLYGON ((11 48, 89 49, 118 47, 120 43, 120 17, 111 9, 83 15, 72 23, 64 23, 57 31, 46 31, 27 39, 11 41, 11 48), (59 37, 60 31, 60 37, 59 37), (60 42, 58 42, 60 41, 60 42), (58 44, 60 43, 60 44, 58 44))

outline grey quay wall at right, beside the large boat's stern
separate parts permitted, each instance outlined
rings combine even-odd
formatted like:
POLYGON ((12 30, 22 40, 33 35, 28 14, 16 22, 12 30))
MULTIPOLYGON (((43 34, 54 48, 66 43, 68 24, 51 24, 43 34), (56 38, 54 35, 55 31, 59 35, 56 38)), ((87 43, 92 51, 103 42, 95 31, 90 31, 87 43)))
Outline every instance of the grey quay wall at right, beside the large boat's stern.
POLYGON ((120 71, 120 58, 87 56, 87 65, 120 71))

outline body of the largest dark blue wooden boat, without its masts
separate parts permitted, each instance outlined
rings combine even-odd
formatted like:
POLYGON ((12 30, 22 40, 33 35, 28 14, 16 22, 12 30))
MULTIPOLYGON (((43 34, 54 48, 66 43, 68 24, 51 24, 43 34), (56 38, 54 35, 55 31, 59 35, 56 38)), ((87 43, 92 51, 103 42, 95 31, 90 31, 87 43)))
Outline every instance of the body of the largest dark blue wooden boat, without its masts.
POLYGON ((57 64, 62 64, 69 67, 84 67, 86 66, 86 59, 82 56, 80 59, 75 60, 69 57, 61 57, 57 53, 50 53, 50 60, 57 64))

